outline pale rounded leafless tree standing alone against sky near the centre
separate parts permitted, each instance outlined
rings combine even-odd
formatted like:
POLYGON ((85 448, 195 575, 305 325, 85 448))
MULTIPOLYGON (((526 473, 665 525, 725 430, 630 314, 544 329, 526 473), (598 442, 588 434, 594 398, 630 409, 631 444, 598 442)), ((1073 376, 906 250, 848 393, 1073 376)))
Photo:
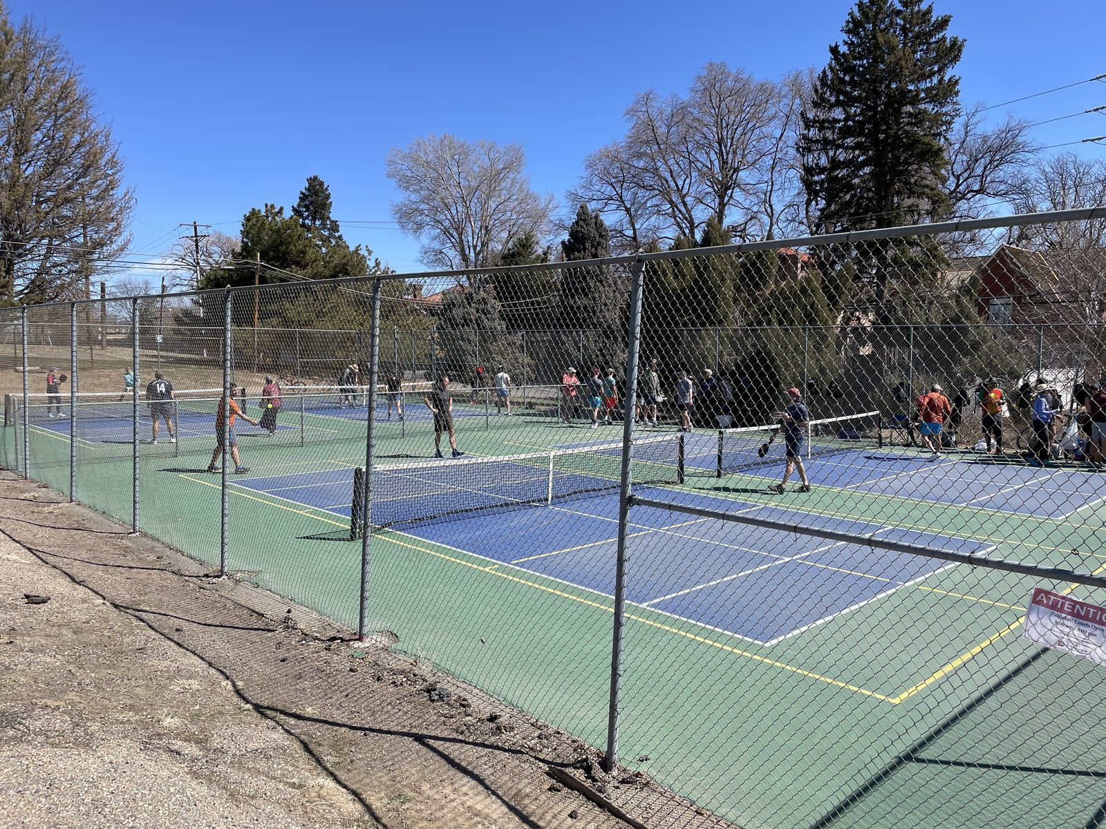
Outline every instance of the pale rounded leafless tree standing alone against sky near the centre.
POLYGON ((422 240, 430 266, 481 267, 524 233, 549 230, 553 197, 530 189, 518 144, 431 135, 394 149, 387 171, 403 193, 392 213, 422 240))

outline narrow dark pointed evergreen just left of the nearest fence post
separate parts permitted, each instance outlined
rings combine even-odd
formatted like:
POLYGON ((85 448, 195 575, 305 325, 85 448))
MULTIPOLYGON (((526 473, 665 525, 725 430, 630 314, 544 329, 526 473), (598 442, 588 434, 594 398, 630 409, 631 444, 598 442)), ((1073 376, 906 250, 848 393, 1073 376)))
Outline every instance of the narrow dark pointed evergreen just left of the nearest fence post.
MULTIPOLYGON (((611 255, 611 231, 598 213, 581 204, 568 237, 561 243, 566 263, 611 255)), ((556 327, 565 330, 565 359, 618 369, 626 363, 623 309, 625 276, 606 265, 571 266, 561 273, 556 327)), ((585 367, 581 367, 583 370, 585 367)))

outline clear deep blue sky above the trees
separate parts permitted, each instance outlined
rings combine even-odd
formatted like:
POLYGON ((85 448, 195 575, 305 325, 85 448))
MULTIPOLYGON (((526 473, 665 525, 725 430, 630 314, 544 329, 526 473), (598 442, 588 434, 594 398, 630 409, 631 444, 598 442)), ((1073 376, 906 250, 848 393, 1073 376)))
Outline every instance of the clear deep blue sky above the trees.
MULTIPOLYGON (((847 0, 703 2, 90 3, 14 0, 61 39, 122 144, 133 251, 168 249, 178 222, 237 233, 251 207, 331 187, 347 240, 399 271, 418 242, 392 222, 385 157, 430 133, 518 141, 535 189, 563 204, 583 158, 622 135, 647 88, 684 91, 710 60, 763 77, 821 67, 847 0), (786 9, 786 11, 781 11, 786 9), (354 225, 352 222, 357 222, 354 225)), ((1106 3, 936 0, 967 40, 966 103, 999 104, 1106 72, 1106 3)), ((1106 84, 1012 104, 1043 120, 1106 104, 1106 84)), ((1043 145, 1106 135, 1106 116, 1034 129, 1043 145)), ((1078 151, 1102 157, 1106 147, 1078 151)))

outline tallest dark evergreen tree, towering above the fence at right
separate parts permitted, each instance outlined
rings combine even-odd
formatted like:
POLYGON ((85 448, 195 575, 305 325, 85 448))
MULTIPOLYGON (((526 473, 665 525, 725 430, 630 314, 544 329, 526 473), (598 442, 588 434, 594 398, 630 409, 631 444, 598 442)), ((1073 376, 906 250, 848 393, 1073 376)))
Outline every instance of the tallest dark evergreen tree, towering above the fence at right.
MULTIPOLYGON (((947 214, 945 141, 959 112, 952 70, 963 52, 950 21, 926 0, 857 0, 849 12, 803 113, 802 180, 821 231, 947 214)), ((893 259, 939 260, 931 248, 893 246, 869 244, 858 269, 870 274, 877 304, 890 295, 893 259)))

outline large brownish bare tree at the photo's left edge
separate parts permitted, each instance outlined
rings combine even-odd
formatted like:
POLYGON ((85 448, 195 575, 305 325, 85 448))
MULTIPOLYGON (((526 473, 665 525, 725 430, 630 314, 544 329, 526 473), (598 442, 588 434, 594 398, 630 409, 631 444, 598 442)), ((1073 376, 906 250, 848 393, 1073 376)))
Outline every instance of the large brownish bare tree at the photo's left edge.
POLYGON ((83 296, 129 243, 111 129, 59 41, 0 7, 0 301, 83 296))

